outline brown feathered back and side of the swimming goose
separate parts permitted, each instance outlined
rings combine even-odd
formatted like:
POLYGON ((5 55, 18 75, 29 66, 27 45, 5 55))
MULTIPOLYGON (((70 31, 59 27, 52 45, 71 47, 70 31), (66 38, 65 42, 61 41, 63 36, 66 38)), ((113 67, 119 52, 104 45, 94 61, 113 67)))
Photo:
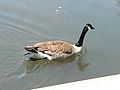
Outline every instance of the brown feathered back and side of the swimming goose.
POLYGON ((64 58, 71 56, 74 53, 74 47, 64 41, 47 41, 35 44, 33 47, 37 47, 38 51, 41 51, 52 59, 64 58))

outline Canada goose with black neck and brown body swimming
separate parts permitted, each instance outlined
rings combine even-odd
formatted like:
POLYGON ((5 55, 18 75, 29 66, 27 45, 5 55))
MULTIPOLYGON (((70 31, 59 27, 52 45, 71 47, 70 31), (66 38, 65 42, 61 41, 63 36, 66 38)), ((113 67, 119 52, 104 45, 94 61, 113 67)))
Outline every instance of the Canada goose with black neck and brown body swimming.
POLYGON ((32 53, 31 60, 38 59, 63 59, 81 51, 84 37, 90 29, 95 29, 91 24, 86 24, 82 30, 78 42, 74 45, 65 41, 46 41, 33 46, 26 46, 25 49, 32 53))

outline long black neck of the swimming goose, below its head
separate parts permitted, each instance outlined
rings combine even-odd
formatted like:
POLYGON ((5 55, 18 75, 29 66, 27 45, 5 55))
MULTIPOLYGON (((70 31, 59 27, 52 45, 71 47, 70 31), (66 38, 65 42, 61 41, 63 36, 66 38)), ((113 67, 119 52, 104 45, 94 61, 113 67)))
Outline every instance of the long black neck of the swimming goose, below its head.
POLYGON ((85 26, 83 28, 83 31, 80 35, 80 38, 79 38, 78 42, 75 44, 77 47, 81 47, 83 45, 83 41, 84 41, 84 38, 85 38, 85 35, 86 35, 87 31, 88 31, 88 27, 85 26))

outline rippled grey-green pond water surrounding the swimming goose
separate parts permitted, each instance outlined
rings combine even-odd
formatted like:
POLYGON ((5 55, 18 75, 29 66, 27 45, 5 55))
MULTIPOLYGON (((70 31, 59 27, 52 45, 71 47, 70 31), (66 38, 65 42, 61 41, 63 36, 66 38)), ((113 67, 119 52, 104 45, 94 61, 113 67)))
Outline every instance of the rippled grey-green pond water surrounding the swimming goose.
POLYGON ((28 90, 120 73, 120 0, 0 0, 0 88, 28 90), (64 61, 26 61, 24 46, 75 43, 96 28, 83 51, 64 61))

